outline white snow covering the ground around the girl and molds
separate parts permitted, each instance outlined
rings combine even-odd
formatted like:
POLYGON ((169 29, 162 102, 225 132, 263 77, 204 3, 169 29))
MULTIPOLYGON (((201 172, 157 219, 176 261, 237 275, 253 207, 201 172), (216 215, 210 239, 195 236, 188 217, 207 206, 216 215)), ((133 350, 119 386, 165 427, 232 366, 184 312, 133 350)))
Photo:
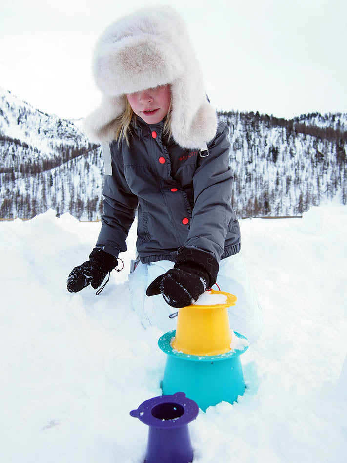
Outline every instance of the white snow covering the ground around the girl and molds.
MULTIPOLYGON (((346 462, 347 206, 240 226, 265 328, 241 356, 245 394, 189 424, 194 463, 346 462)), ((129 412, 161 394, 166 356, 129 309, 135 229, 101 295, 66 290, 99 229, 52 210, 0 222, 2 462, 143 462, 129 412)))

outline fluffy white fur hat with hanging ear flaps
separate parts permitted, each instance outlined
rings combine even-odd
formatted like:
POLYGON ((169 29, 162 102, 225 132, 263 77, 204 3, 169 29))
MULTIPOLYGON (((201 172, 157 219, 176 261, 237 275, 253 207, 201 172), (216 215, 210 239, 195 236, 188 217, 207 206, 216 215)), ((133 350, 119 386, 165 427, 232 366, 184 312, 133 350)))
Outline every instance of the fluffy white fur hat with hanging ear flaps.
POLYGON ((84 120, 89 138, 114 139, 125 94, 171 84, 171 129, 184 148, 206 149, 216 133, 200 65, 182 18, 170 7, 141 9, 113 22, 98 40, 93 73, 102 103, 84 120))

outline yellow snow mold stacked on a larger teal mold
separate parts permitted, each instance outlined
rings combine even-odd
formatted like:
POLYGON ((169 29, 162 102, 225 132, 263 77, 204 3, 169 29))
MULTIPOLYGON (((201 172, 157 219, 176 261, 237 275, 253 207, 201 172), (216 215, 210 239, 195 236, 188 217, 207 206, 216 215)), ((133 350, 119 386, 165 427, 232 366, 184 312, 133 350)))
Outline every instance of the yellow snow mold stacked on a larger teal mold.
POLYGON ((206 411, 222 401, 233 403, 245 392, 240 355, 248 342, 230 329, 227 312, 236 299, 210 290, 199 298, 199 304, 179 309, 177 329, 158 341, 167 355, 164 395, 183 391, 206 411))

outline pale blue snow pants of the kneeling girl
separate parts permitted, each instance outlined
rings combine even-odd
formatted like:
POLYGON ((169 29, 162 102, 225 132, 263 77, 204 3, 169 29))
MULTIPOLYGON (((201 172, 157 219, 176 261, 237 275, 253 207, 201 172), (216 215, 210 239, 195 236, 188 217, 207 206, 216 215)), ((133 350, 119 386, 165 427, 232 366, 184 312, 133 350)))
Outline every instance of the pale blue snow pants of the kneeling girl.
MULTIPOLYGON (((169 315, 177 309, 169 306, 161 294, 148 297, 146 288, 157 276, 167 272, 174 262, 161 260, 150 264, 139 262, 129 274, 131 307, 140 316, 145 328, 157 326, 164 333, 176 329, 177 317, 169 315)), ((253 342, 263 326, 262 309, 249 279, 242 253, 237 253, 220 261, 217 284, 221 291, 237 296, 236 305, 229 307, 230 328, 253 342)), ((214 286, 218 290, 217 286, 214 286)))

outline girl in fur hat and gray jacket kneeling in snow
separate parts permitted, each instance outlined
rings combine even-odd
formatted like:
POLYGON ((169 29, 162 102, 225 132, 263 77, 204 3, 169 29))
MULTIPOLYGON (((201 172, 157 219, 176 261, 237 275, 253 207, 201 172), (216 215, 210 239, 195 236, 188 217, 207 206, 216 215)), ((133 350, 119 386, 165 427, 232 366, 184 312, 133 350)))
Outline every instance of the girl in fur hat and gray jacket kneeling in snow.
POLYGON ((85 129, 103 144, 104 211, 96 247, 68 290, 101 285, 126 251, 137 210, 140 263, 129 288, 143 325, 172 329, 168 311, 218 280, 238 297, 231 327, 254 339, 261 315, 230 201, 228 127, 217 124, 182 19, 165 7, 114 22, 97 42, 93 71, 103 100, 85 129))

